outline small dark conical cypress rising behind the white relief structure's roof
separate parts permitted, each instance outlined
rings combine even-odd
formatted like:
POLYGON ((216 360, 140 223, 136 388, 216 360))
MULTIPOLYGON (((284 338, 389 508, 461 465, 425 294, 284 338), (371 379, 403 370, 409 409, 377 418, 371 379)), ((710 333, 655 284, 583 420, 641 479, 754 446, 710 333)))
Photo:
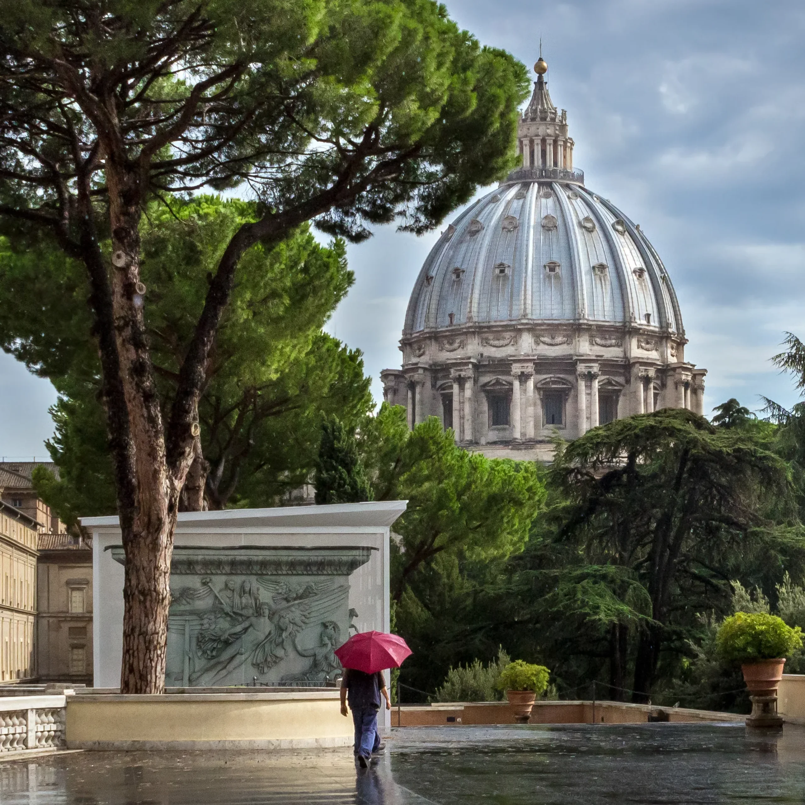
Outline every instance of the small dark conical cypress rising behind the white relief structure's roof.
POLYGON ((360 503, 372 499, 357 440, 336 416, 321 425, 316 461, 316 503, 360 503))

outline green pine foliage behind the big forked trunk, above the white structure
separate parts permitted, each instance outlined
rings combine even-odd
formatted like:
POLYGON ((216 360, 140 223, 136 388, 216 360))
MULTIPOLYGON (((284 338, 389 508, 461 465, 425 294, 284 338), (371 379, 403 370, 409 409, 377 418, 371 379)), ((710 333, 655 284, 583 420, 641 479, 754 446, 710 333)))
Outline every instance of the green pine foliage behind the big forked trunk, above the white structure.
MULTIPOLYGON (((143 220, 147 328, 166 409, 208 272, 254 211, 254 204, 198 196, 174 202, 171 212, 155 204, 143 220)), ((97 349, 84 335, 91 326, 84 271, 47 242, 18 251, 0 240, 0 249, 0 344, 60 393, 48 443, 60 481, 43 479, 40 492, 68 525, 109 514, 114 475, 97 349)), ((308 480, 323 414, 337 412, 355 427, 369 411, 361 353, 320 330, 352 282, 343 244, 319 246, 304 228, 242 258, 200 400, 211 508, 274 505, 308 480)))

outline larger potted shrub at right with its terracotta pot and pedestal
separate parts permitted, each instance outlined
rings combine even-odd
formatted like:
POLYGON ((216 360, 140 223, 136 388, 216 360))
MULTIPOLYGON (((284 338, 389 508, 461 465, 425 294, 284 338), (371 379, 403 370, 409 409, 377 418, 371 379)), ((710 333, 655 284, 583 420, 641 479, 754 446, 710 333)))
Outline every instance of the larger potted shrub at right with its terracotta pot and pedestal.
POLYGON ((752 714, 749 726, 778 726, 777 688, 786 657, 802 648, 802 630, 768 613, 737 612, 728 617, 716 635, 716 649, 730 663, 739 663, 744 674, 752 714))

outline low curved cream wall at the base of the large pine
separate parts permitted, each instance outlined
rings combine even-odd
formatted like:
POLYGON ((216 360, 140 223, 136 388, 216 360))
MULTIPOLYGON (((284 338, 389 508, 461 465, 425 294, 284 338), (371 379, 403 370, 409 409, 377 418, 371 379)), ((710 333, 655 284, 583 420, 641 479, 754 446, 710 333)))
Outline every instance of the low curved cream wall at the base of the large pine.
MULTIPOLYGON (((243 691, 243 688, 239 690, 243 691)), ((67 701, 69 749, 304 749, 349 746, 339 691, 81 693, 67 701)))

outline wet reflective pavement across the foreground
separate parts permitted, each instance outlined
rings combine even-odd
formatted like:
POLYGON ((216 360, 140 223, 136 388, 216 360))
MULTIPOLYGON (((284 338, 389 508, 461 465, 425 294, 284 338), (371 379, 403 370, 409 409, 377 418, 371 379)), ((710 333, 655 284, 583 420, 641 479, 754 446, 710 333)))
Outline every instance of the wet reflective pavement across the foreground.
POLYGON ((394 730, 349 749, 85 752, 0 764, 2 805, 805 803, 805 729, 573 725, 394 730))

